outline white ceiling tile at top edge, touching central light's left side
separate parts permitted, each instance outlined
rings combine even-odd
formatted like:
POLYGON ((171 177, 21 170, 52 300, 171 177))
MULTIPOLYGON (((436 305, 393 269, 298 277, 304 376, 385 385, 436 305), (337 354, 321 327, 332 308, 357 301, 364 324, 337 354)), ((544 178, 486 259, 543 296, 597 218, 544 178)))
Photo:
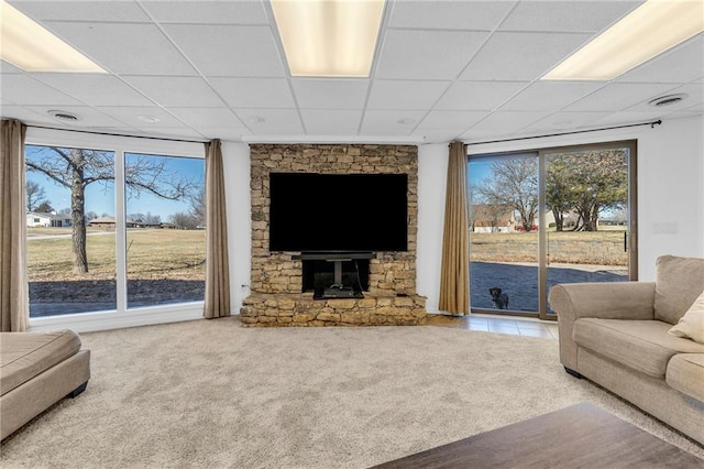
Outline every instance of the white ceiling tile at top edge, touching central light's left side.
POLYGON ((144 8, 162 23, 266 24, 268 18, 261 0, 143 1, 144 8))

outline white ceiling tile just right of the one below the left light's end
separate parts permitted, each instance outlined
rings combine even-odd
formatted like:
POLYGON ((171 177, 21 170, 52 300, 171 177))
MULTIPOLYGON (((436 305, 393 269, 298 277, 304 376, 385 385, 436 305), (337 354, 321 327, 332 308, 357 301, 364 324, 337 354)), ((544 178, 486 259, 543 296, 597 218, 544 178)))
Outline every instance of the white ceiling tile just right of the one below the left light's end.
POLYGON ((217 108, 223 102, 199 77, 123 76, 136 89, 164 107, 217 108))

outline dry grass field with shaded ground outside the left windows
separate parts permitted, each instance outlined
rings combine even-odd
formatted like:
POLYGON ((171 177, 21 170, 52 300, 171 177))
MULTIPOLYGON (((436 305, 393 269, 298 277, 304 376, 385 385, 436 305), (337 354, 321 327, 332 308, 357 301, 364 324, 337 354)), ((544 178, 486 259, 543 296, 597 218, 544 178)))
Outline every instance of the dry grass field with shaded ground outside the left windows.
MULTIPOLYGON (((128 304, 202 299, 205 230, 130 229, 128 304)), ((70 229, 28 228, 30 302, 103 303, 116 298, 114 231, 88 231, 88 273, 73 272, 70 229)))

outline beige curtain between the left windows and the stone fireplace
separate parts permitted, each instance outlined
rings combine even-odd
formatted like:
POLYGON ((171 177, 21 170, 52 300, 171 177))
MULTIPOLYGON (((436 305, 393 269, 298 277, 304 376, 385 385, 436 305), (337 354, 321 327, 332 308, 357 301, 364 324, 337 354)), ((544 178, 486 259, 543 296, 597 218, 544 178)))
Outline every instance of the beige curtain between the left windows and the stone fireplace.
POLYGON ((207 318, 230 316, 228 217, 220 140, 206 143, 206 306, 207 318))

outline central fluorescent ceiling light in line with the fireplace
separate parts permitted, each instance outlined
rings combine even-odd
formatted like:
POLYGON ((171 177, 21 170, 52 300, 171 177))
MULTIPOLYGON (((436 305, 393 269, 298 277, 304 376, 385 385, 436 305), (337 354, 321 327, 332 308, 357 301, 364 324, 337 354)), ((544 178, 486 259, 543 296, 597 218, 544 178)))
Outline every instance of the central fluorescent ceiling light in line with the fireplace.
POLYGON ((272 0, 294 76, 367 77, 384 0, 272 0))

